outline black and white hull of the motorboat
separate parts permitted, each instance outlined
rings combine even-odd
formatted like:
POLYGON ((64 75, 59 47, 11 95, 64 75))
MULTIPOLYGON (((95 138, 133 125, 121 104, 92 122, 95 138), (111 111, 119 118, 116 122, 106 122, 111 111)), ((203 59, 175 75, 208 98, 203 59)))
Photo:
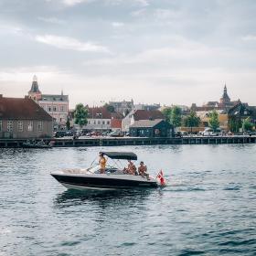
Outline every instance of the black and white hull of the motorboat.
POLYGON ((51 174, 68 189, 127 189, 135 187, 158 187, 155 179, 147 180, 142 176, 129 175, 67 175, 51 174))

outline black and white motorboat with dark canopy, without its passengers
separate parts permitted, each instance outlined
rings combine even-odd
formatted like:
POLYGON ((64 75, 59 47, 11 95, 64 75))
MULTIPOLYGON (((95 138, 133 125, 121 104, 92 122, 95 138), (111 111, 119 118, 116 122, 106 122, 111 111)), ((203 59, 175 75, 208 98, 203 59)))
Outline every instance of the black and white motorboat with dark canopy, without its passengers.
MULTIPOLYGON (((137 160, 132 152, 101 152, 112 159, 115 166, 107 165, 101 173, 100 165, 92 165, 87 169, 66 169, 50 173, 61 185, 68 189, 126 189, 135 187, 158 187, 159 182, 152 176, 129 175, 118 165, 120 160, 137 160), (117 163, 118 162, 118 163, 117 163)), ((121 165, 122 166, 122 165, 121 165)))

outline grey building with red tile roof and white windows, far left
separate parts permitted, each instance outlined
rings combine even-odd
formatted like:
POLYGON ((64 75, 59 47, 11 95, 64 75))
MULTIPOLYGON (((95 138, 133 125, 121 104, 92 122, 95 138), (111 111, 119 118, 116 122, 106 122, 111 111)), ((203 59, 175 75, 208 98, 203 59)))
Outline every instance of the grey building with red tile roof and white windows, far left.
POLYGON ((0 138, 46 138, 53 135, 52 117, 28 97, 0 94, 0 138))

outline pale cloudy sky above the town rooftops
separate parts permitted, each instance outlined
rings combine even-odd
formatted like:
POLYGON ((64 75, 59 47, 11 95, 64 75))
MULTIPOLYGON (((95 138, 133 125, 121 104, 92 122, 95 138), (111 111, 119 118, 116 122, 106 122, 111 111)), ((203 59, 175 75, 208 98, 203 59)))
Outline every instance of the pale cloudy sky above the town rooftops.
POLYGON ((255 0, 0 0, 0 93, 256 105, 255 0))

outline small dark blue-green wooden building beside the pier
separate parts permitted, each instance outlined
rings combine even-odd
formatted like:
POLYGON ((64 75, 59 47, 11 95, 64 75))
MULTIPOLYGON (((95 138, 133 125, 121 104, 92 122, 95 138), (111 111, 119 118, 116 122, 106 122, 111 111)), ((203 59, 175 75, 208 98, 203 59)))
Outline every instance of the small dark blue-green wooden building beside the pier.
POLYGON ((164 119, 135 121, 129 128, 133 137, 170 137, 174 127, 164 119))

